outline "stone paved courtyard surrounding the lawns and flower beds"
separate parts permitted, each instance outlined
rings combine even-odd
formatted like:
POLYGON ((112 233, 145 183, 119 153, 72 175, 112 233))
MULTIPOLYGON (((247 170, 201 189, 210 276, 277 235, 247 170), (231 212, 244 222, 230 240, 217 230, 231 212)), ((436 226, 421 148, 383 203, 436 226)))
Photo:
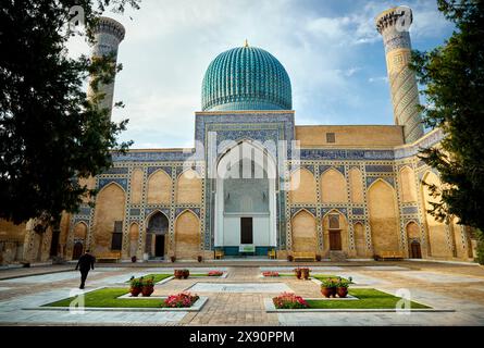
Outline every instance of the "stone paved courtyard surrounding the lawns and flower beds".
POLYGON ((191 273, 209 270, 228 272, 227 277, 172 279, 156 286, 153 296, 183 290, 208 296, 200 312, 89 311, 71 313, 32 308, 66 298, 78 286, 74 265, 8 269, 0 271, 1 325, 484 325, 484 269, 471 264, 436 262, 346 262, 308 264, 312 273, 351 276, 355 287, 373 287, 395 294, 406 288, 411 299, 452 312, 301 312, 268 313, 264 298, 283 290, 306 298, 321 297, 319 286, 295 277, 261 277, 262 271, 289 273, 300 263, 207 262, 191 264, 106 264, 89 274, 86 290, 121 286, 132 275, 191 273), (26 308, 29 308, 27 310, 26 308))

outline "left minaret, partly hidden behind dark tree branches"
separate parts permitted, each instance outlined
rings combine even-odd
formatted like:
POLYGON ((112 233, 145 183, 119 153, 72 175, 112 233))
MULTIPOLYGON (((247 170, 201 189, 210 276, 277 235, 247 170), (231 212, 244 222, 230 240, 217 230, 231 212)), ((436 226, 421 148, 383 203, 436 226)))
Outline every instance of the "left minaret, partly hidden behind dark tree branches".
MULTIPOLYGON (((114 54, 114 63, 117 59, 117 47, 124 39, 125 29, 124 26, 109 17, 100 17, 97 26, 94 28, 95 45, 92 47, 92 59, 96 57, 102 57, 110 53, 114 54)), ((100 92, 104 94, 104 98, 101 101, 101 108, 108 108, 109 117, 111 119, 111 109, 113 105, 114 95, 114 80, 109 85, 102 85, 100 92)), ((88 88, 88 98, 92 95, 90 88, 88 88)))

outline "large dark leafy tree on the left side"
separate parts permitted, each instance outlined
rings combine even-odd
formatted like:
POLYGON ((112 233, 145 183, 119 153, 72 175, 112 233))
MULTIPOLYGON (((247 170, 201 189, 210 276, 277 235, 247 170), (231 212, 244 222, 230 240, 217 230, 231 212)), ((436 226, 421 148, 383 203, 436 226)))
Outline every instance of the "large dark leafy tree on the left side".
MULTIPOLYGON (((0 217, 14 223, 39 217, 59 221, 95 195, 79 178, 112 165, 111 151, 127 120, 114 123, 98 107, 100 84, 112 82, 120 65, 107 57, 69 58, 70 36, 92 44, 92 27, 108 8, 138 9, 138 0, 2 1, 0 9, 0 217), (86 34, 66 30, 70 10, 84 10, 86 34), (89 75, 96 95, 87 100, 89 75)), ((117 105, 122 105, 119 103, 117 105)))

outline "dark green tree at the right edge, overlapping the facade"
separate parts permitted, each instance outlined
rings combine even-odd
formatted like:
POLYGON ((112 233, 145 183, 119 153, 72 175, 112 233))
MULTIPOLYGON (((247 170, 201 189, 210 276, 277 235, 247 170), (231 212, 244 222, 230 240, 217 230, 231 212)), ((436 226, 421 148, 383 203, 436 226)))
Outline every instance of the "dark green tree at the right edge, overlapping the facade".
POLYGON ((460 224, 484 231, 484 1, 437 4, 455 30, 443 46, 414 51, 410 64, 424 86, 424 122, 444 132, 438 147, 420 154, 443 182, 430 185, 438 198, 430 213, 440 220, 457 216, 460 224))

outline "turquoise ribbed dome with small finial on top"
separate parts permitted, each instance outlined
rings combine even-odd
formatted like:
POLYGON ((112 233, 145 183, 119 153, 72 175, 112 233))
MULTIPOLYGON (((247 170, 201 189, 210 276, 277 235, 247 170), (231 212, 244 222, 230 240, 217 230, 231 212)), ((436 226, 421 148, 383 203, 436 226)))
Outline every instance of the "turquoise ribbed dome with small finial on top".
POLYGON ((290 110, 290 79, 280 61, 257 47, 220 53, 207 69, 201 88, 203 111, 290 110))

